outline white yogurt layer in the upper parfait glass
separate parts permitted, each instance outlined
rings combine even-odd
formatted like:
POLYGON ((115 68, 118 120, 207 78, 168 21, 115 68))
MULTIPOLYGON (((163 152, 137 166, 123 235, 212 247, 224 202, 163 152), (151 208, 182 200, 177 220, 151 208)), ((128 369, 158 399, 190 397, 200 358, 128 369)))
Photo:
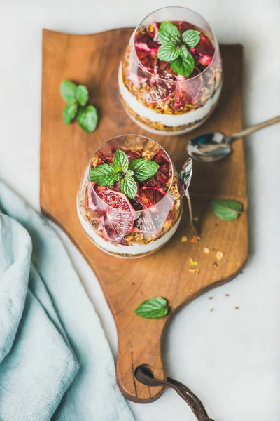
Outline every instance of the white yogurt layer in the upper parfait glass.
MULTIPOLYGON (((137 97, 135 97, 125 86, 123 83, 123 77, 122 77, 122 66, 120 65, 119 72, 118 72, 118 85, 120 88, 120 95, 123 97, 123 100, 127 103, 127 105, 139 116, 143 117, 144 119, 148 119, 152 121, 153 123, 161 123, 165 126, 169 127, 177 127, 177 126, 183 126, 185 124, 194 123, 197 120, 203 120, 207 114, 211 111, 211 108, 213 105, 216 104, 218 101, 218 98, 221 94, 221 86, 219 86, 218 90, 216 91, 215 95, 212 98, 209 98, 205 104, 198 108, 194 109, 193 111, 187 112, 185 114, 177 114, 177 115, 170 115, 170 114, 160 114, 153 109, 149 107, 145 107, 141 102, 137 100, 137 97)), ((133 119, 133 118, 132 118, 133 119)), ((172 132, 167 131, 158 131, 152 128, 148 128, 143 123, 140 123, 139 121, 133 119, 139 126, 148 129, 149 131, 153 131, 153 133, 166 133, 169 135, 172 135, 172 132)), ((202 121, 203 122, 203 121, 202 121)), ((201 122, 201 123, 202 123, 201 122)), ((197 124, 197 126, 199 126, 197 124)), ((176 135, 179 133, 186 133, 186 131, 193 130, 196 126, 184 129, 183 131, 177 131, 176 135)))

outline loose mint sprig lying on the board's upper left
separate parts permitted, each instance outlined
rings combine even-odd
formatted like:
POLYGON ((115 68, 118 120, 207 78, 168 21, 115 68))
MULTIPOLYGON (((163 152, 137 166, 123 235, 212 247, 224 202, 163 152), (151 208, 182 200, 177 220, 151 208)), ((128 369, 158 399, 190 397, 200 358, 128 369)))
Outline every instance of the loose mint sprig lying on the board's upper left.
POLYGON ((93 105, 87 105, 89 98, 87 87, 63 81, 60 84, 60 93, 67 102, 63 112, 64 123, 71 124, 77 119, 83 130, 92 133, 97 128, 98 113, 93 105))

